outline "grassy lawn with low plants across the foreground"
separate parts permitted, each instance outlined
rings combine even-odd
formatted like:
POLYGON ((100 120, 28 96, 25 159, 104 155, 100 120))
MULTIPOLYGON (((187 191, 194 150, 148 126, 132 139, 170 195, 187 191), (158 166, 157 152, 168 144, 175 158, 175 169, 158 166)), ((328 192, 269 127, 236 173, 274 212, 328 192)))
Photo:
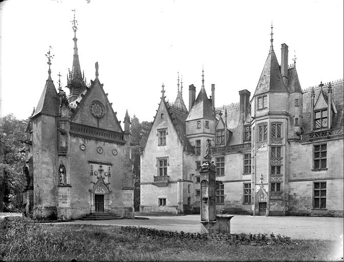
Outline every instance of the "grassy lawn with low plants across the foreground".
POLYGON ((265 234, 191 234, 138 227, 1 221, 5 261, 324 261, 334 241, 265 234))

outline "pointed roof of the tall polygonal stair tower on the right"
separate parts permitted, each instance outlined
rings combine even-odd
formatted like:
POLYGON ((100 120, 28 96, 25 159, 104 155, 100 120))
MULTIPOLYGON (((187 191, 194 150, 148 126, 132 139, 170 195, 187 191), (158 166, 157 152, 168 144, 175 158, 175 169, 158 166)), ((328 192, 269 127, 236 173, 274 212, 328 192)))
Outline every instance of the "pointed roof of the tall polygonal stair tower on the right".
POLYGON ((281 71, 279 71, 279 64, 275 52, 273 51, 272 42, 268 58, 265 61, 261 77, 259 78, 253 96, 266 92, 288 92, 283 82, 281 71))

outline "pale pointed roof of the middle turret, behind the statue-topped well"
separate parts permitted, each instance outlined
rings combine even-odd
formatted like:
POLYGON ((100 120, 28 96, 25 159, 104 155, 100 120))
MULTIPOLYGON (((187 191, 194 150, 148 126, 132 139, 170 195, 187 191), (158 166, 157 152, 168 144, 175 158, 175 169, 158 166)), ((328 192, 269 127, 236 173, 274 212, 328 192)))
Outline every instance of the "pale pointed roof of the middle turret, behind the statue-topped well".
POLYGON ((201 89, 195 103, 193 103, 190 113, 186 118, 186 121, 200 119, 200 118, 207 118, 207 119, 214 118, 212 106, 209 102, 207 93, 205 92, 204 88, 201 89))

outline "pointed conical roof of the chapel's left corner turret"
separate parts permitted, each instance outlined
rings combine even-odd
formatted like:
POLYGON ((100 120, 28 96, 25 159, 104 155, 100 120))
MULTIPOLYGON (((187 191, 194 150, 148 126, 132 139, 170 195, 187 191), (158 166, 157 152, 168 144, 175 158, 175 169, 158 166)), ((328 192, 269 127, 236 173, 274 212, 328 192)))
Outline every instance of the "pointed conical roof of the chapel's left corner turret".
POLYGON ((60 100, 49 72, 46 85, 44 86, 43 92, 36 106, 36 110, 31 118, 37 116, 38 114, 57 116, 59 104, 60 100))

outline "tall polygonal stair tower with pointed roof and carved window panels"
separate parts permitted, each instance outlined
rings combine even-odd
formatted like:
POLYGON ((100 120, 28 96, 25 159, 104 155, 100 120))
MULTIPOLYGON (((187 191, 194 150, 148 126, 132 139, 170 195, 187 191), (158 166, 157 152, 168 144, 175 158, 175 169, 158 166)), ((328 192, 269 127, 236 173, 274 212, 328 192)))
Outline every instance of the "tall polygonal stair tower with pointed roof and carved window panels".
MULTIPOLYGON (((271 25, 270 51, 251 99, 252 128, 252 211, 254 215, 286 213, 286 157, 288 145, 287 69, 281 73, 273 50, 271 25)), ((285 45, 283 52, 288 52, 285 45)), ((288 57, 284 54, 285 63, 288 57)), ((288 67, 287 67, 288 68, 288 67)))

